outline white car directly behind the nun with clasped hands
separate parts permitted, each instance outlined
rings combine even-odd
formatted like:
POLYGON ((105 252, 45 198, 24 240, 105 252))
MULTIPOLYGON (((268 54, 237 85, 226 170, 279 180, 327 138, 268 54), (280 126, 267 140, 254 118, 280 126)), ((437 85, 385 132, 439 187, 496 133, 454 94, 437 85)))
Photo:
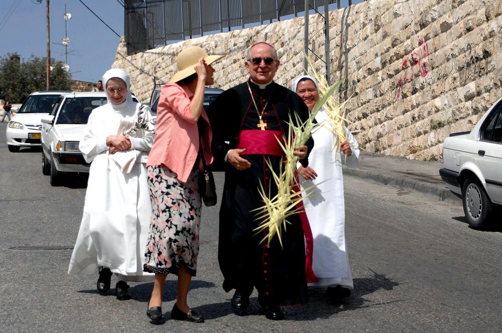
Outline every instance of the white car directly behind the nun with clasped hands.
POLYGON ((42 173, 52 186, 61 185, 63 173, 89 172, 78 143, 91 111, 106 103, 104 92, 65 93, 42 117, 42 173))

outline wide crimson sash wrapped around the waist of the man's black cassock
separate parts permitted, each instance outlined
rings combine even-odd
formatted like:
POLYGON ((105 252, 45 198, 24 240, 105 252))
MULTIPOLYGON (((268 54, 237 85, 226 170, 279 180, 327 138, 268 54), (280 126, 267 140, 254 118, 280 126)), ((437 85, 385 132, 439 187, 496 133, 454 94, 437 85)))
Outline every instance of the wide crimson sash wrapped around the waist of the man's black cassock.
POLYGON ((244 129, 240 131, 237 148, 246 148, 246 151, 241 153, 241 155, 260 154, 282 156, 284 152, 277 139, 283 142, 281 131, 244 129))

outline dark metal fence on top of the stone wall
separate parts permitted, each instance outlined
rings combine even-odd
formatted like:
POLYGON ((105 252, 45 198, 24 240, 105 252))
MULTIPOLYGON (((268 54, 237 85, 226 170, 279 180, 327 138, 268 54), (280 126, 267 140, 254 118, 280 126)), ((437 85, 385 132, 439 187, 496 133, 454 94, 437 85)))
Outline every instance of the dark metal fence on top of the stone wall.
MULTIPOLYGON (((128 54, 211 33, 272 23, 305 12, 305 0, 123 0, 128 54)), ((309 0, 311 10, 325 0, 309 0)), ((328 0, 328 4, 340 1, 328 0)), ((352 5, 351 0, 345 1, 352 5)))

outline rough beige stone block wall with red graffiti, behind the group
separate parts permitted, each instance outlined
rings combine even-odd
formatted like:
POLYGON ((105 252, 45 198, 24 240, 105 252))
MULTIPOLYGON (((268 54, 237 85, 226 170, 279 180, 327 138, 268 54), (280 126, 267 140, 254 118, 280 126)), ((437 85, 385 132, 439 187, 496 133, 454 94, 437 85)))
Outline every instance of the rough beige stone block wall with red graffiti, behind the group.
MULTIPOLYGON (((450 132, 470 130, 502 97, 502 2, 498 0, 370 0, 330 12, 332 81, 349 98, 349 128, 361 146, 417 159, 439 159, 450 132)), ((324 22, 309 18, 310 48, 324 55, 324 22)), ((249 45, 279 51, 276 81, 290 86, 303 70, 303 18, 209 35, 127 56, 122 42, 112 67, 124 68, 142 101, 175 72, 176 55, 199 45, 226 54, 215 86, 243 82, 249 45)), ((319 72, 324 64, 311 55, 319 72)))

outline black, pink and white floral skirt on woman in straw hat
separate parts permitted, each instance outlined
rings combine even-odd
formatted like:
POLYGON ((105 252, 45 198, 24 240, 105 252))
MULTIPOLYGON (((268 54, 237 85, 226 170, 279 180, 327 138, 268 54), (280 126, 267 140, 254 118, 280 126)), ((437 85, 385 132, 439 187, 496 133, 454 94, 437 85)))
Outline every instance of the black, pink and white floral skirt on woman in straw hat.
POLYGON ((183 265, 195 276, 201 210, 199 171, 192 170, 186 183, 178 181, 177 175, 162 165, 151 165, 147 172, 153 216, 143 270, 178 274, 183 265))

